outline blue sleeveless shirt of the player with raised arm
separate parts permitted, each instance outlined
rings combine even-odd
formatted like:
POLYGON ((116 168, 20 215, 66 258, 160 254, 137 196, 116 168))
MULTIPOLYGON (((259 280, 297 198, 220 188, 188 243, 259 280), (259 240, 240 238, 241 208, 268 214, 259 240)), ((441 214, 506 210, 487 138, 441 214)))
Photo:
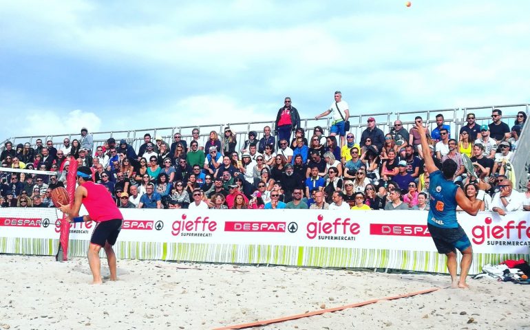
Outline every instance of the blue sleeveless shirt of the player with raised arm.
POLYGON ((440 228, 457 228, 456 190, 458 186, 436 170, 429 175, 430 210, 427 223, 440 228))

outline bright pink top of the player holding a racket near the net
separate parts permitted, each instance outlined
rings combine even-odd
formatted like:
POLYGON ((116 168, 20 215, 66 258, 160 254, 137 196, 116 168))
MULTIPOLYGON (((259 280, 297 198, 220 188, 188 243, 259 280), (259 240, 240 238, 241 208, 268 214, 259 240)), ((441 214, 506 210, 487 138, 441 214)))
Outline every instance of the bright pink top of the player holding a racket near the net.
POLYGON ((96 222, 123 219, 118 206, 114 203, 110 192, 101 184, 87 181, 81 186, 87 190, 87 197, 83 198, 83 205, 90 218, 96 222))

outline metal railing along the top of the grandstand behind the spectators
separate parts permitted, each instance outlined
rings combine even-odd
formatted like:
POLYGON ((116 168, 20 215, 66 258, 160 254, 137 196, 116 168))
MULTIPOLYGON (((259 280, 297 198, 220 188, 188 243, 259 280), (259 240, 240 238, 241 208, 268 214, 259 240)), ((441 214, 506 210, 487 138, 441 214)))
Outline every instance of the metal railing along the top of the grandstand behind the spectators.
MULTIPOLYGON (((491 122, 491 111, 493 109, 502 110, 502 121, 506 122, 510 127, 513 126, 513 122, 516 119, 516 114, 519 111, 524 111, 529 115, 530 104, 503 104, 503 105, 491 105, 491 106, 481 106, 481 107, 455 107, 447 109, 432 109, 432 110, 419 110, 419 111, 389 111, 388 113, 363 113, 355 114, 350 113, 350 131, 355 135, 355 141, 359 142, 362 131, 366 128, 366 119, 368 117, 374 117, 377 122, 377 127, 381 129, 384 133, 388 133, 392 128, 394 120, 401 120, 403 122, 403 127, 405 129, 410 129, 414 124, 414 117, 416 115, 421 115, 424 122, 433 129, 436 126, 436 114, 442 113, 445 118, 445 124, 451 126, 452 132, 457 132, 460 130, 460 127, 466 124, 466 115, 469 112, 475 113, 476 123, 477 124, 489 124, 491 122)), ((301 111, 303 114, 304 111, 301 111)), ((275 113, 271 113, 270 121, 262 122, 226 122, 218 124, 202 124, 197 126, 171 126, 171 127, 155 127, 149 129, 135 129, 128 131, 102 131, 102 132, 91 132, 94 136, 94 148, 103 142, 107 141, 109 137, 114 137, 116 141, 120 139, 127 140, 127 143, 133 146, 133 148, 138 151, 138 148, 143 143, 143 136, 145 133, 150 133, 152 137, 161 136, 162 139, 171 144, 173 142, 173 134, 181 133, 182 140, 191 140, 191 131, 194 128, 200 129, 200 140, 202 142, 206 141, 209 136, 210 131, 222 132, 226 126, 230 126, 232 131, 237 137, 237 150, 242 146, 244 141, 248 138, 249 131, 257 131, 257 139, 263 135, 263 127, 271 126, 274 129, 274 119, 275 113)), ((305 118, 301 119, 301 127, 306 131, 306 137, 312 135, 312 129, 315 126, 321 126, 324 129, 324 135, 328 135, 329 129, 331 126, 330 118, 322 118, 315 120, 314 118, 305 118)), ((80 127, 81 129, 81 127, 80 127)), ((530 147, 530 137, 528 132, 528 125, 524 125, 520 139, 518 142, 518 148, 513 157, 513 166, 516 170, 516 177, 518 178, 518 188, 526 187, 526 179, 529 173, 530 166, 530 155, 527 152, 530 147)), ((79 136, 79 133, 61 133, 54 135, 28 135, 28 136, 15 136, 6 139, 1 142, 0 151, 3 151, 4 144, 7 141, 12 142, 13 146, 16 146, 19 143, 24 144, 25 142, 30 142, 34 145, 35 140, 41 139, 43 141, 52 140, 55 147, 60 147, 62 141, 65 137, 70 138, 70 140, 79 136)), ((456 137, 452 134, 452 137, 456 137)))

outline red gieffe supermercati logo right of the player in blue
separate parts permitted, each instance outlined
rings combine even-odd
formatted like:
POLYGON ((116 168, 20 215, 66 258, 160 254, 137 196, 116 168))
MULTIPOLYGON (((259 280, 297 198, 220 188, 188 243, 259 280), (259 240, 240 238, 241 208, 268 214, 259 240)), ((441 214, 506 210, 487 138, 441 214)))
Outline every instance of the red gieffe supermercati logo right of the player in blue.
POLYGON ((501 241, 487 241, 488 245, 530 245, 530 228, 527 226, 527 221, 513 221, 510 220, 502 225, 491 225, 493 220, 490 217, 484 219, 484 225, 476 225, 471 229, 473 237, 471 240, 475 244, 484 244, 488 239, 496 240, 511 240, 506 243, 499 244, 501 241), (521 242, 522 241, 522 242, 521 242))

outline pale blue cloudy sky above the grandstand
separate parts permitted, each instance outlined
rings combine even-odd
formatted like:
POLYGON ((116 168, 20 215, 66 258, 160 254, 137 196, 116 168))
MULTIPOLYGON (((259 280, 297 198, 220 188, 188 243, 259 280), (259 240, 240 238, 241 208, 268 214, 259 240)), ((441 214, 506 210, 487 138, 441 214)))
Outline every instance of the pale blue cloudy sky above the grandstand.
POLYGON ((0 0, 0 141, 529 102, 530 1, 0 0))

